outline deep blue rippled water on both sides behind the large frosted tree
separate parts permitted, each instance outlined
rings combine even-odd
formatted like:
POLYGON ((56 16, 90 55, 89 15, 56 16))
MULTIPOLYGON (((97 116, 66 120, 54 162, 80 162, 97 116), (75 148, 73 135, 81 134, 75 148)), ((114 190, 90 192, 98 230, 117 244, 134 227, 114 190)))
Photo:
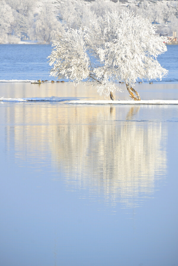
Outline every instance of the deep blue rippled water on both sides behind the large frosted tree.
MULTIPOLYGON (((178 81, 178 45, 167 45, 168 51, 158 57, 161 66, 169 70, 162 82, 178 81)), ((50 77, 47 56, 51 45, 0 45, 0 80, 55 80, 50 77)))

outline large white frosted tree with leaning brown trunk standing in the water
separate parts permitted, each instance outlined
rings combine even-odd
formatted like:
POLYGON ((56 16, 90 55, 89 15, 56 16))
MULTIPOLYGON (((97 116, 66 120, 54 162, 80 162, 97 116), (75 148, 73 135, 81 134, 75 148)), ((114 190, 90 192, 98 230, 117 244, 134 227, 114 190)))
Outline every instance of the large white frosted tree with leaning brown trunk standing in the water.
POLYGON ((130 96, 140 100, 133 89, 136 80, 161 79, 168 72, 157 61, 167 50, 164 41, 148 19, 140 20, 133 12, 107 12, 53 43, 51 75, 76 84, 88 79, 105 95, 120 90, 115 82, 125 82, 130 96))

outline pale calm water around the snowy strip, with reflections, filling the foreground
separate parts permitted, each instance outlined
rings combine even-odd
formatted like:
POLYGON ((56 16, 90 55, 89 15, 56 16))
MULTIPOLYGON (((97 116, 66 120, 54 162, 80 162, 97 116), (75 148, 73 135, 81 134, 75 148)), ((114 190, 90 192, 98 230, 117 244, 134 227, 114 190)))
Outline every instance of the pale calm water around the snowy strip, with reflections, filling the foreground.
MULTIPOLYGON (((176 83, 136 89, 178 99, 176 83)), ((66 83, 0 96, 104 99, 66 83)), ((178 106, 0 102, 1 265, 177 265, 177 140, 178 106)))

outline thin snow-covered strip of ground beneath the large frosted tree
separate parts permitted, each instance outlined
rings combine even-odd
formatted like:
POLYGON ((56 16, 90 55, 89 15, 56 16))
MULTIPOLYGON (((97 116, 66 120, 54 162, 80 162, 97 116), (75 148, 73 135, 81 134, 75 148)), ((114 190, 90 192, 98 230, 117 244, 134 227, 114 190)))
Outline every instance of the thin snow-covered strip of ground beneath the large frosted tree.
POLYGON ((141 101, 134 101, 134 100, 81 100, 81 101, 69 101, 68 103, 73 104, 178 104, 178 100, 141 100, 141 101))

